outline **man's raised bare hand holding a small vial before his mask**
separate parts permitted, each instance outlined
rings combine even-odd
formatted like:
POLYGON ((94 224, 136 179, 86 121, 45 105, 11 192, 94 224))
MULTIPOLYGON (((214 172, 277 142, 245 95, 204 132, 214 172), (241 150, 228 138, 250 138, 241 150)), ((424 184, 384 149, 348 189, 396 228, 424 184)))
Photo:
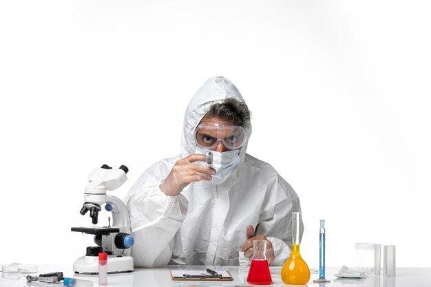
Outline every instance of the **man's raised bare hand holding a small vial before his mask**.
POLYGON ((201 164, 193 164, 196 161, 204 162, 207 156, 204 154, 191 154, 175 163, 171 172, 160 184, 160 190, 167 195, 177 195, 190 184, 201 180, 211 180, 215 169, 201 164))

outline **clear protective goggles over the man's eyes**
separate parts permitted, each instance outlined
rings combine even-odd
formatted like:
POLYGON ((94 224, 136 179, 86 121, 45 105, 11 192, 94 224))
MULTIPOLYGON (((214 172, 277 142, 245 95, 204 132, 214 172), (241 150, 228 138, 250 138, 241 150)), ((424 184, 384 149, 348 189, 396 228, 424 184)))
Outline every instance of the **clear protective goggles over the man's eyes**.
POLYGON ((196 145, 204 149, 213 149, 223 142, 227 149, 240 149, 247 139, 244 127, 219 123, 204 123, 195 129, 196 145))

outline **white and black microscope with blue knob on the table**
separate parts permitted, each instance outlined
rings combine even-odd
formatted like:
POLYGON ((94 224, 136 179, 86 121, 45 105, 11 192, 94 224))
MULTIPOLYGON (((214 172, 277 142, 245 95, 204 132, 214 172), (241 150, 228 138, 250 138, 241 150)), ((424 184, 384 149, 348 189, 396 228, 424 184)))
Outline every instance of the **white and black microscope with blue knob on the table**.
POLYGON ((129 171, 125 165, 112 169, 107 164, 94 169, 88 176, 90 184, 85 187, 84 204, 80 211, 85 215, 90 211, 92 223, 97 224, 98 213, 105 204, 105 210, 112 213, 112 226, 106 227, 72 227, 71 231, 94 235, 97 246, 87 247, 85 256, 75 260, 75 273, 98 274, 98 253, 107 253, 107 272, 125 273, 134 270, 134 262, 130 248, 134 244, 134 237, 130 234, 129 213, 122 200, 106 191, 118 189, 126 180, 129 171))

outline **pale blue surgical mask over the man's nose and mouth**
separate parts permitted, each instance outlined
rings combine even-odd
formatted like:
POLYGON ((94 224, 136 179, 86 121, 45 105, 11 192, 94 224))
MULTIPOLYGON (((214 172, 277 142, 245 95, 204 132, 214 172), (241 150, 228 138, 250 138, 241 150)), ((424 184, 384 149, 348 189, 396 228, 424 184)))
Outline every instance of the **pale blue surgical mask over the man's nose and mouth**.
MULTIPOLYGON (((207 149, 202 147, 196 147, 196 153, 207 154, 207 149)), ((213 153, 213 164, 211 167, 215 169, 216 173, 212 176, 209 184, 222 184, 229 178, 233 169, 240 163, 240 150, 235 151, 224 151, 219 153, 218 151, 211 151, 213 153)), ((205 162, 199 162, 202 165, 206 165, 205 162)))

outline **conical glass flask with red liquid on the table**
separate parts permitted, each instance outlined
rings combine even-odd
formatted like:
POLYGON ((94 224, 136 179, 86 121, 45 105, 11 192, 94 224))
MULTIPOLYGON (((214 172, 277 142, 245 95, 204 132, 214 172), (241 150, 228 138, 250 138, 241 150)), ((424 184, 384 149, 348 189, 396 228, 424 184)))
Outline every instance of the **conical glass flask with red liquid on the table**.
POLYGON ((266 240, 253 240, 253 259, 247 277, 247 283, 268 285, 273 281, 266 259, 266 240))

